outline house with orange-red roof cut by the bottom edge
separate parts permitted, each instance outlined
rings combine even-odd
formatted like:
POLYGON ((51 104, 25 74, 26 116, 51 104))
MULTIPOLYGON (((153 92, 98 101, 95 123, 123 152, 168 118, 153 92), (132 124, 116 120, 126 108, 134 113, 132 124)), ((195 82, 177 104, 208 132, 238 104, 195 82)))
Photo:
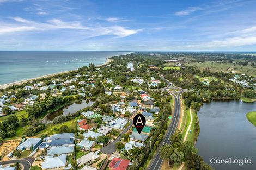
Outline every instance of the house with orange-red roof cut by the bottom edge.
POLYGON ((130 160, 121 159, 114 157, 112 161, 108 164, 108 169, 111 170, 126 170, 129 166, 130 160))

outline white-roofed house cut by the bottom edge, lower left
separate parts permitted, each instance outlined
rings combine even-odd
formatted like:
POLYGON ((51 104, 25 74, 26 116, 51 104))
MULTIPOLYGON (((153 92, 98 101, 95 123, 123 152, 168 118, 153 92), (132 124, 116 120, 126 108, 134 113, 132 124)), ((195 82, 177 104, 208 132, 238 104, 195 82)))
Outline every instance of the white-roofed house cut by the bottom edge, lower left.
POLYGON ((57 157, 46 156, 44 162, 41 163, 42 170, 47 169, 64 169, 66 167, 66 154, 57 157))

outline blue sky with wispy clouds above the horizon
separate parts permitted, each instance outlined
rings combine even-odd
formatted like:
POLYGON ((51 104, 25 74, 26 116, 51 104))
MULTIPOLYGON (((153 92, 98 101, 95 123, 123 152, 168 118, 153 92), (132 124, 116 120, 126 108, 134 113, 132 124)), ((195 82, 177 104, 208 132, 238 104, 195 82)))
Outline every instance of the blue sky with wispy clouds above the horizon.
POLYGON ((256 1, 0 0, 0 50, 256 51, 256 1))

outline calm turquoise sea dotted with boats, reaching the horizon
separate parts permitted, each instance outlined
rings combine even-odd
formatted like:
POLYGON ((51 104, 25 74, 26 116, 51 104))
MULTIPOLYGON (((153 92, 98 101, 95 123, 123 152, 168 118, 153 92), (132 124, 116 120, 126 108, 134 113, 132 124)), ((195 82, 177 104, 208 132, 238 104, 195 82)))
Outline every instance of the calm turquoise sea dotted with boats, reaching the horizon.
POLYGON ((88 66, 90 62, 100 65, 106 62, 106 58, 129 53, 109 51, 0 51, 0 84, 74 70, 88 66))

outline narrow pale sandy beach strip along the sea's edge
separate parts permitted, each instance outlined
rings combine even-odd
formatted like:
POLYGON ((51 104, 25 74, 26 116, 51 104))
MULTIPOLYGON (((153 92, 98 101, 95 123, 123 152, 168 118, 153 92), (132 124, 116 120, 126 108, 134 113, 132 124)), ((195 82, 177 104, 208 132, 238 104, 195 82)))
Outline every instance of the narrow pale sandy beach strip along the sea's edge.
MULTIPOLYGON (((110 58, 106 58, 106 62, 104 62, 103 64, 100 64, 100 65, 96 65, 97 67, 100 67, 100 66, 103 66, 103 65, 106 65, 106 64, 109 64, 110 62, 114 61, 113 59, 110 59, 110 58)), ((2 84, 0 85, 0 89, 6 89, 10 86, 13 86, 13 85, 21 85, 23 83, 27 83, 28 81, 33 81, 33 80, 36 80, 36 79, 39 79, 39 78, 48 78, 48 77, 52 77, 52 76, 55 76, 55 75, 60 75, 60 74, 64 74, 64 73, 69 73, 69 72, 72 72, 72 71, 77 71, 77 69, 75 70, 69 70, 69 71, 64 71, 64 72, 58 72, 58 73, 52 73, 52 74, 46 74, 46 75, 41 75, 39 77, 35 77, 35 78, 31 78, 31 79, 26 79, 26 80, 20 80, 20 81, 14 81, 14 82, 11 82, 11 83, 7 83, 7 84, 2 84)))

